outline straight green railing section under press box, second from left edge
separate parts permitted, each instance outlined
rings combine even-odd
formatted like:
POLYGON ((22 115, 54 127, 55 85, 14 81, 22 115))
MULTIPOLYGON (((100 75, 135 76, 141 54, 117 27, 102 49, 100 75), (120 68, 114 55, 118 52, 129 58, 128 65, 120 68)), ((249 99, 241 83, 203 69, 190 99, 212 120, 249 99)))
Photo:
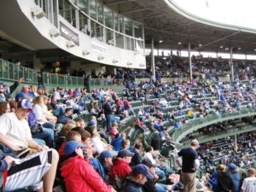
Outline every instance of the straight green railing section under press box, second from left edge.
POLYGON ((43 72, 43 84, 54 86, 83 87, 84 78, 43 72))

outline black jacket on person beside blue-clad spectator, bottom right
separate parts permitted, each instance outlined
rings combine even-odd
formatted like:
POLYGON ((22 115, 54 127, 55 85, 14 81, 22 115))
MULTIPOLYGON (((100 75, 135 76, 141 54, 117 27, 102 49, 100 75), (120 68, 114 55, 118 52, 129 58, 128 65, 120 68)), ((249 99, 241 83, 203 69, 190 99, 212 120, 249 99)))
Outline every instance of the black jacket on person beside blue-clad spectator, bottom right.
POLYGON ((227 172, 218 172, 217 180, 218 180, 218 191, 229 192, 230 190, 233 189, 232 179, 227 172))

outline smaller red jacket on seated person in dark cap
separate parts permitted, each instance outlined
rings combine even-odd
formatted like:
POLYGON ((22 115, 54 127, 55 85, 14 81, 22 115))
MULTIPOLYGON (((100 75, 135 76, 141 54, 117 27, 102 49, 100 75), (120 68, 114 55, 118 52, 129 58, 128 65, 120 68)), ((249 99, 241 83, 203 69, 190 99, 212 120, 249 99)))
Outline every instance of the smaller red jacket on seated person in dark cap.
POLYGON ((109 170, 109 179, 114 181, 114 176, 126 178, 131 172, 131 166, 122 158, 113 160, 113 166, 109 170))

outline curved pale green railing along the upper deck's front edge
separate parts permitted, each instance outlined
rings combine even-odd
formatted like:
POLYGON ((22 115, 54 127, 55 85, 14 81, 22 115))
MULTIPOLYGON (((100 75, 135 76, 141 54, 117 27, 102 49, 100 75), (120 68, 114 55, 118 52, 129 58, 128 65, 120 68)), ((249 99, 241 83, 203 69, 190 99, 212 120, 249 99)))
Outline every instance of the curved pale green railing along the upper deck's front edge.
POLYGON ((174 141, 179 142, 190 132, 196 131, 207 125, 212 125, 214 123, 222 122, 224 120, 238 119, 253 115, 256 115, 256 108, 246 108, 235 111, 233 113, 212 114, 208 115, 206 118, 192 119, 188 123, 184 124, 182 127, 175 130, 172 134, 172 138, 174 141))

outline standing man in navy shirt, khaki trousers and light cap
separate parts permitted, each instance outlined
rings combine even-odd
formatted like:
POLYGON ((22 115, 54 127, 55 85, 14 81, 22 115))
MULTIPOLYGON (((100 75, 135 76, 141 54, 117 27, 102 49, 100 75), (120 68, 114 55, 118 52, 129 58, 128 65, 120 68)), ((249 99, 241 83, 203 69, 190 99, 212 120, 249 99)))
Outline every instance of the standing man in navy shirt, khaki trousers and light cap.
POLYGON ((182 167, 183 192, 196 192, 196 170, 200 166, 196 149, 199 147, 199 142, 192 140, 190 148, 183 148, 177 153, 177 164, 182 167), (182 165, 178 157, 182 157, 182 165))

